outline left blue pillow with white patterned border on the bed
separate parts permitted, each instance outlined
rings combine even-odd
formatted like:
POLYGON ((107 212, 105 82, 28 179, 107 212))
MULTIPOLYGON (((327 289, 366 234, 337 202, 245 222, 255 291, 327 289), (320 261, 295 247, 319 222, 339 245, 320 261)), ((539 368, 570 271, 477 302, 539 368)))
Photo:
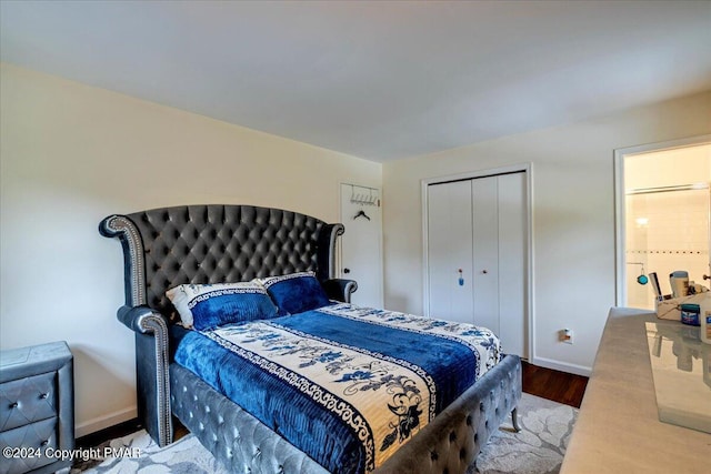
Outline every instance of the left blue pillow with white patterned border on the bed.
POLYGON ((259 282, 184 284, 166 292, 182 325, 198 331, 278 315, 277 306, 259 282))

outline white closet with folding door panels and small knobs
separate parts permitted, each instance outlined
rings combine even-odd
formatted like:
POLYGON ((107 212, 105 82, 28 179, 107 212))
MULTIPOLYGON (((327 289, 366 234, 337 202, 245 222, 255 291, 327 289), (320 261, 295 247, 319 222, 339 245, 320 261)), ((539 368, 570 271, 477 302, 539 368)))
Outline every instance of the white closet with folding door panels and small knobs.
POLYGON ((528 355, 525 171, 442 182, 425 192, 425 312, 491 329, 528 355))

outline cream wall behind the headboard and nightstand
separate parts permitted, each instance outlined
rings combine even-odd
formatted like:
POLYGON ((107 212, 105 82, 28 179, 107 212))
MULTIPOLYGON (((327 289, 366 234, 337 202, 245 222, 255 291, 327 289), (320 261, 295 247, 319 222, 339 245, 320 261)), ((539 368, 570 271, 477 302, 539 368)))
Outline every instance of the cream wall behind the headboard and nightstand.
POLYGON ((136 416, 133 335, 111 213, 258 204, 333 222, 339 183, 381 165, 10 64, 0 77, 0 344, 64 340, 77 435, 136 416))

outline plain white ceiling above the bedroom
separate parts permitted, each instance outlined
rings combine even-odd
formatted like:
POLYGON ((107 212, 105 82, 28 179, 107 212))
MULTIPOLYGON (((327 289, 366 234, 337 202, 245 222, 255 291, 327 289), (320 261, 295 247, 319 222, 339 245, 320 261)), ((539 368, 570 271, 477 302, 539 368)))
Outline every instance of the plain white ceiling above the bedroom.
POLYGON ((711 1, 7 1, 2 61, 384 162, 711 90, 711 1))

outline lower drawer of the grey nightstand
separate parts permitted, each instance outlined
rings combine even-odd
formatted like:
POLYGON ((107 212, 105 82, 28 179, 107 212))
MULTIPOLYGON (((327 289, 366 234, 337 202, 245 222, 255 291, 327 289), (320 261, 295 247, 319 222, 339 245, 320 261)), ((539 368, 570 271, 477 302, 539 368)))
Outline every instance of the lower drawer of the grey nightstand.
POLYGON ((2 456, 0 474, 26 473, 56 462, 57 457, 46 457, 44 451, 51 448, 52 455, 57 450, 57 417, 0 433, 0 448, 4 453, 8 447, 18 452, 2 456))

